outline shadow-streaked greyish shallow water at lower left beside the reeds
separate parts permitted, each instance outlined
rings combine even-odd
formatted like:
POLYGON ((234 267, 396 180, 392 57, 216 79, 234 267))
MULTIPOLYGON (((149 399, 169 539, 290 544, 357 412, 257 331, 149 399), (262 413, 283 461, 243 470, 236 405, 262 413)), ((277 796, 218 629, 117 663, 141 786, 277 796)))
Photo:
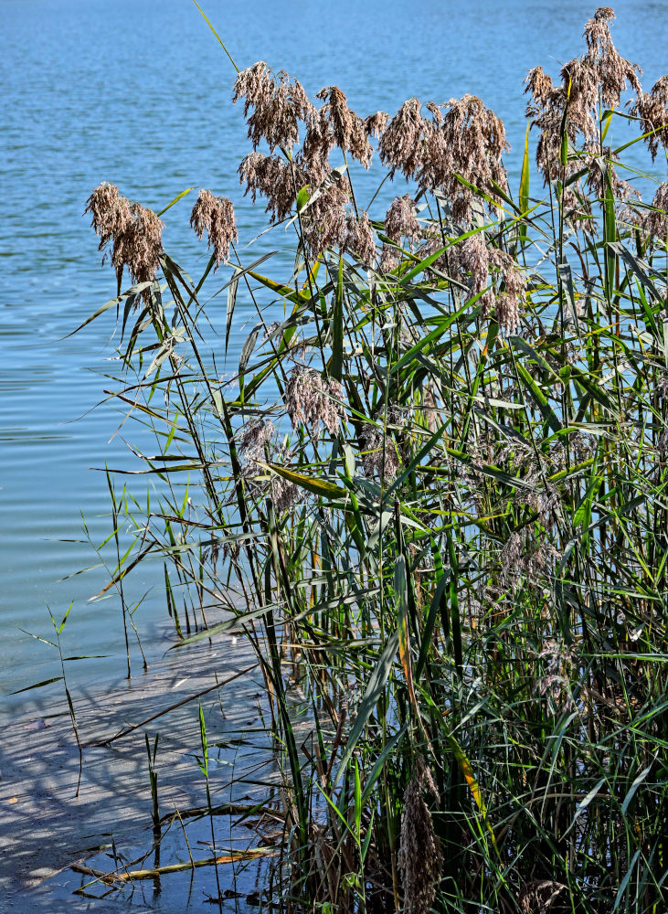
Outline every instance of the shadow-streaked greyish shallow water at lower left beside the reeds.
POLYGON ((186 651, 186 658, 168 654, 130 683, 77 689, 73 700, 84 744, 79 796, 79 753, 64 700, 43 716, 7 726, 0 749, 0 891, 7 910, 53 911, 61 904, 78 911, 92 904, 96 911, 136 905, 184 911, 201 909, 207 898, 217 909, 217 882, 225 909, 246 898, 252 906, 259 898, 274 833, 282 827, 278 813, 274 821, 252 814, 256 802, 271 803, 276 779, 260 673, 233 638, 186 651), (257 849, 249 859, 217 866, 217 877, 214 866, 189 866, 191 859, 214 856, 211 819, 201 812, 206 782, 196 760, 200 701, 217 811, 216 856, 257 849), (156 842, 145 738, 153 747, 157 733, 156 842), (91 872, 75 872, 72 864, 91 872), (187 868, 126 884, 92 875, 178 864, 187 868), (85 895, 72 895, 82 887, 85 895))

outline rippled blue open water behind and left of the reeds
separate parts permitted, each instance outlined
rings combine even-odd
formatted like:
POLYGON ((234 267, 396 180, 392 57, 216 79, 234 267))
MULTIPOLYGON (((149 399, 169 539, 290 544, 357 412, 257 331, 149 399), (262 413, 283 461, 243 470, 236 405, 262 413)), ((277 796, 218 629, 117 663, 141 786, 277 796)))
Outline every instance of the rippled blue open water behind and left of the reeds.
MULTIPOLYGON (((615 8, 618 48, 641 63, 649 88, 665 69, 668 3, 622 0, 615 8)), ((362 115, 394 113, 414 95, 437 102, 465 92, 481 96, 506 124, 513 145, 506 165, 516 186, 526 71, 540 63, 556 75, 559 62, 581 53, 582 27, 594 4, 205 0, 205 10, 240 67, 264 59, 302 80, 312 97, 337 84, 362 115)), ((118 603, 87 602, 101 572, 58 582, 95 560, 89 548, 72 542, 80 538, 80 512, 95 537, 110 530, 104 478, 88 468, 132 463, 122 441, 125 429, 109 443, 119 416, 109 406, 90 412, 109 386, 102 373, 113 367, 107 361, 112 318, 63 339, 115 292, 111 269, 101 268, 82 217, 85 200, 102 180, 155 209, 188 186, 206 186, 234 201, 243 248, 266 222, 263 207, 251 207, 242 196, 236 175, 249 143, 243 112, 230 101, 234 78, 189 0, 0 0, 5 707, 12 689, 55 675, 52 652, 19 630, 47 634, 47 604, 61 613, 75 600, 65 632, 69 653, 110 654, 94 662, 96 675, 122 668, 118 603)), ((376 180, 364 179, 369 197, 376 180)), ((387 185, 376 215, 394 193, 404 192, 403 182, 387 185)), ((196 275, 207 253, 188 228, 192 202, 187 197, 166 214, 164 241, 196 275)), ((280 228, 242 256, 291 244, 280 228)), ((216 282, 227 278, 219 271, 216 282)), ((218 327, 224 299, 211 307, 218 327)), ((239 294, 228 370, 253 317, 251 303, 239 294)), ((131 441, 134 434, 127 430, 131 441)), ((144 583, 153 583, 150 575, 144 583)), ((164 614, 156 588, 138 611, 137 625, 151 632, 164 614)), ((80 675, 87 669, 80 664, 80 675)))

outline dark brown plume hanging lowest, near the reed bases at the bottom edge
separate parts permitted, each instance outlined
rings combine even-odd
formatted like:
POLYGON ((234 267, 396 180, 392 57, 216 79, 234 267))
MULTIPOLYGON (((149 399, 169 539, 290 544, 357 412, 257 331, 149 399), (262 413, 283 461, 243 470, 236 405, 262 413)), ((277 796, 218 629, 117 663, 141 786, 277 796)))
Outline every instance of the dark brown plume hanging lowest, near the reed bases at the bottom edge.
POLYGON ((417 771, 404 795, 397 856, 406 914, 429 914, 440 880, 442 856, 425 793, 439 798, 431 772, 418 759, 417 771))

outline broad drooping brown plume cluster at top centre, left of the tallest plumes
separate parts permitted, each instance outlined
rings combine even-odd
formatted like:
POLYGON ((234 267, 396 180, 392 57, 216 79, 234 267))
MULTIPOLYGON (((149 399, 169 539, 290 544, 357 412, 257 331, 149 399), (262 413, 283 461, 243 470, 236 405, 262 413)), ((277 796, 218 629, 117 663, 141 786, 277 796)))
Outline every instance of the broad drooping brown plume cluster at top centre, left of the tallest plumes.
POLYGON ((453 218, 468 225, 473 194, 456 175, 493 197, 494 185, 507 189, 504 123, 475 95, 425 107, 427 117, 418 99, 404 102, 380 139, 380 159, 392 175, 415 178, 421 192, 440 189, 453 218))

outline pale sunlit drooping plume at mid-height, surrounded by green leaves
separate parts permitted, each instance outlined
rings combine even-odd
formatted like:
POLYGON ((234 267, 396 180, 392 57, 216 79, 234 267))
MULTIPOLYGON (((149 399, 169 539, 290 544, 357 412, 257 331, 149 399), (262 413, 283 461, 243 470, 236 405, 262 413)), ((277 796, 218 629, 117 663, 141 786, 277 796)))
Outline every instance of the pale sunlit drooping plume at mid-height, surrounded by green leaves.
POLYGON ((333 378, 324 378, 315 368, 295 365, 285 385, 283 400, 285 409, 297 430, 300 423, 315 436, 320 423, 331 435, 335 435, 345 415, 341 405, 343 387, 333 378))

